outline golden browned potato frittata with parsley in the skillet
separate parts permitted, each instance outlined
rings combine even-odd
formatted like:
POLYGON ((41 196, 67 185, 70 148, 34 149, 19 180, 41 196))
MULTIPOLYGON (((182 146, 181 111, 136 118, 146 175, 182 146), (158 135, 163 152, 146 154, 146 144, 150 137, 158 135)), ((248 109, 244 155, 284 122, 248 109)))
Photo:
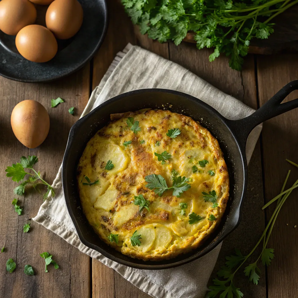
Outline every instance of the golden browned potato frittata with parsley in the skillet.
POLYGON ((197 248, 221 221, 229 198, 217 140, 170 111, 120 117, 90 139, 77 166, 89 223, 105 243, 142 260, 197 248))

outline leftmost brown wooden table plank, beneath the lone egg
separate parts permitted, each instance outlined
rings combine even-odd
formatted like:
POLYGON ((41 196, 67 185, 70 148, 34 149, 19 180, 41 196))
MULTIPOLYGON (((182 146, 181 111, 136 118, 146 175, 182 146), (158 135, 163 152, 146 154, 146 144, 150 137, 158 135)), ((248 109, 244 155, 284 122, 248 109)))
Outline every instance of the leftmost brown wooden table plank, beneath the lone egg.
POLYGON ((21 293, 24 297, 90 297, 90 258, 35 222, 32 222, 29 233, 23 233, 23 225, 38 212, 43 202, 42 195, 29 192, 20 197, 24 212, 18 216, 11 205, 16 183, 8 179, 4 172, 6 166, 18 162, 22 155, 36 155, 40 160, 35 168, 41 171, 46 181, 52 183, 63 158, 69 129, 83 111, 82 103, 89 97, 89 64, 76 74, 53 83, 26 84, 0 78, 0 86, 5 107, 0 111, 0 179, 3 185, 0 192, 4 208, 0 214, 0 242, 5 242, 6 247, 6 252, 0 255, 3 264, 0 271, 0 295, 17 297, 21 293), (66 102, 51 108, 51 98, 59 96, 66 102), (51 121, 47 139, 38 148, 30 150, 17 141, 10 127, 13 107, 25 99, 42 103, 51 121), (77 108, 74 116, 68 113, 72 106, 77 108), (45 251, 53 255, 60 266, 58 270, 49 266, 49 272, 44 272, 44 260, 39 254, 45 251), (17 263, 17 268, 11 274, 5 270, 5 262, 10 257, 17 263), (35 276, 24 274, 25 264, 32 265, 35 276))

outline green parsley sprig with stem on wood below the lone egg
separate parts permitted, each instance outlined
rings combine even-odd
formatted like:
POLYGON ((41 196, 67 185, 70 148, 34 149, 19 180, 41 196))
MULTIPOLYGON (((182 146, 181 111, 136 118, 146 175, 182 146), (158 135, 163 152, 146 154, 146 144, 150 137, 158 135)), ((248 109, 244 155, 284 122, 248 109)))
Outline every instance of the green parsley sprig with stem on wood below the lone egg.
POLYGON ((34 164, 36 164, 37 162, 38 158, 34 155, 29 155, 28 158, 22 156, 19 163, 17 162, 11 167, 6 168, 5 172, 7 177, 11 177, 11 180, 15 182, 23 181, 14 189, 14 193, 16 195, 24 195, 26 187, 32 186, 34 187, 34 189, 36 189, 36 186, 40 184, 46 185, 47 191, 44 194, 44 199, 46 199, 48 195, 53 196, 55 194, 53 187, 41 178, 40 172, 36 172, 33 169, 34 164), (33 174, 30 172, 26 172, 25 169, 30 169, 33 174), (24 180, 26 175, 29 175, 29 177, 27 180, 24 180))

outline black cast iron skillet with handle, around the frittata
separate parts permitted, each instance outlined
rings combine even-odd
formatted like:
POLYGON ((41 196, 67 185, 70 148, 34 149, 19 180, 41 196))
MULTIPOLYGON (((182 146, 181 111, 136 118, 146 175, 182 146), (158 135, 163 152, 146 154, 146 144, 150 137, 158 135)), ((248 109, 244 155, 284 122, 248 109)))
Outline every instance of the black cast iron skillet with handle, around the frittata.
POLYGON ((298 80, 285 85, 252 115, 236 121, 224 118, 214 108, 193 96, 167 89, 140 89, 127 92, 95 108, 72 126, 62 164, 65 202, 80 240, 117 263, 139 269, 166 269, 180 266, 198 259, 215 248, 240 223, 247 184, 245 145, 249 133, 263 121, 297 108, 298 98, 280 104, 296 89, 298 80), (163 109, 169 105, 172 105, 169 108, 171 111, 183 113, 200 121, 218 139, 229 171, 230 198, 221 224, 202 246, 191 253, 170 260, 145 262, 117 252, 100 240, 94 232, 81 208, 77 192, 76 167, 87 142, 110 121, 110 114, 137 111, 142 108, 163 109))

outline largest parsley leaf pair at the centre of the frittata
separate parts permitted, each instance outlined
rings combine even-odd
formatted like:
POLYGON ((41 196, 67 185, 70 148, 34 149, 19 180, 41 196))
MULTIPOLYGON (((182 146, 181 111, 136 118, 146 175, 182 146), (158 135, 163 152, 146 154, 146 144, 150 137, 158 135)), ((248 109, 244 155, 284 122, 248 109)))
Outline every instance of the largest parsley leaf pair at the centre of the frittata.
POLYGON ((145 181, 148 182, 146 187, 154 190, 154 192, 159 196, 162 196, 166 190, 173 189, 173 195, 180 197, 181 193, 190 189, 190 184, 187 183, 189 182, 189 179, 181 176, 173 177, 172 187, 167 186, 167 182, 161 175, 148 175, 145 177, 145 181))

